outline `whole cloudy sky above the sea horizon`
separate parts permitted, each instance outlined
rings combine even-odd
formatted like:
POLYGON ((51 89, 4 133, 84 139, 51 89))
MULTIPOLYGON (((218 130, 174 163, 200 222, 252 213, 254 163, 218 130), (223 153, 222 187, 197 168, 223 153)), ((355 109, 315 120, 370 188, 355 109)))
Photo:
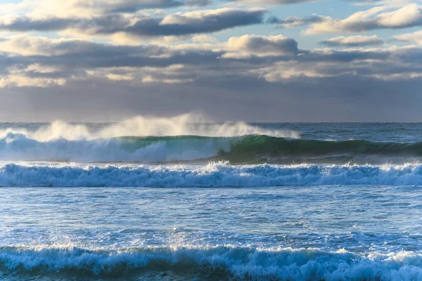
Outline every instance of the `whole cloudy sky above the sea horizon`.
POLYGON ((0 0, 0 122, 422 122, 422 1, 0 0))

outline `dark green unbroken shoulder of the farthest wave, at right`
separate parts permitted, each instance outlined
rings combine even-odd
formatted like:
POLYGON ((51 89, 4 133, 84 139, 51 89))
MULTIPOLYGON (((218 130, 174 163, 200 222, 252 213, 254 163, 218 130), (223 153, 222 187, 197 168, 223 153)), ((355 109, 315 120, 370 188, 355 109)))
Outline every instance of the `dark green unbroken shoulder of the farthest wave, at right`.
MULTIPOLYGON (((288 163, 303 160, 338 158, 352 161, 356 157, 421 157, 422 143, 373 143, 370 141, 319 141, 245 136, 220 156, 230 162, 288 163)), ((366 162, 369 159, 366 158, 366 162)))

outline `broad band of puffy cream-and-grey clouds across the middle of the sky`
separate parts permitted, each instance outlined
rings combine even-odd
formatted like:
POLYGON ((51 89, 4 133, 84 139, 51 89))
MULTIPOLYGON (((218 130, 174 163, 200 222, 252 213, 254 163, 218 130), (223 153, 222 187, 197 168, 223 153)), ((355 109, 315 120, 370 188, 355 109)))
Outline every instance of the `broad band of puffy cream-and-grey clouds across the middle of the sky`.
MULTIPOLYGON (((331 41, 354 45, 365 41, 358 38, 331 41)), ((139 86, 219 79, 284 83, 316 77, 385 81, 422 77, 422 48, 416 46, 306 50, 282 35, 251 34, 226 42, 174 46, 118 46, 21 35, 2 39, 0 49, 4 51, 0 87, 64 86, 98 79, 139 86)))

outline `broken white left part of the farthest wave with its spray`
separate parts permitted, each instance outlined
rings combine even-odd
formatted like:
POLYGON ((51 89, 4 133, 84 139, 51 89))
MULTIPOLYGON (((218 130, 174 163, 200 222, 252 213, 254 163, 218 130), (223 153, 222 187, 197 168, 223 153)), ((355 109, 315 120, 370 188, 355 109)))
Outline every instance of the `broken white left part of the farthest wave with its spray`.
POLYGON ((298 133, 245 123, 209 124, 193 115, 136 117, 99 130, 53 122, 36 131, 0 131, 0 160, 177 162, 217 157, 248 135, 299 138, 298 133), (200 121, 200 123, 198 123, 200 121), (192 123, 196 122, 196 123, 192 123))

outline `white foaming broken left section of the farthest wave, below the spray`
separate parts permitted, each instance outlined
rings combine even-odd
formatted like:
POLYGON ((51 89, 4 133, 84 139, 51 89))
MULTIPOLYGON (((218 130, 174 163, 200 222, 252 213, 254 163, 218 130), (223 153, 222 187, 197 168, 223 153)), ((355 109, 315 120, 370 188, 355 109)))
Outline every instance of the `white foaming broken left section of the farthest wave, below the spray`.
POLYGON ((0 138, 0 160, 7 161, 74 161, 74 162, 168 162, 205 159, 220 150, 229 151, 231 138, 191 138, 156 141, 128 151, 130 141, 94 139, 70 141, 56 138, 37 141, 20 133, 0 138))

